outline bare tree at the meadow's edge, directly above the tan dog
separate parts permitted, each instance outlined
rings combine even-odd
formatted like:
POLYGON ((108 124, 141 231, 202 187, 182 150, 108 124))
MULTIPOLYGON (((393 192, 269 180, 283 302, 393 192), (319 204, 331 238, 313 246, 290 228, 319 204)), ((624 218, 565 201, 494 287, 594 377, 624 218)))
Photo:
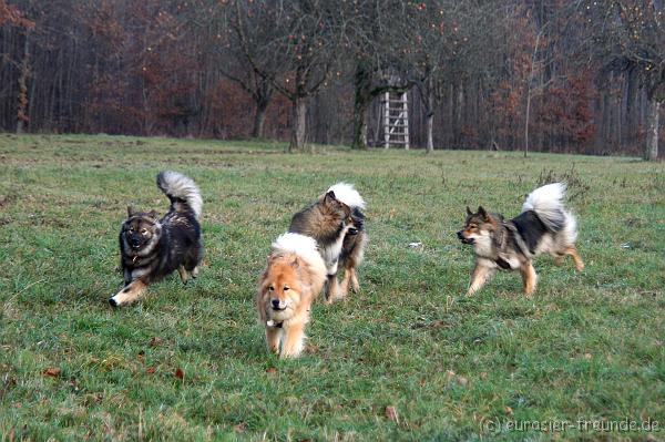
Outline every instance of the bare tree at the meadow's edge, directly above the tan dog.
POLYGON ((236 0, 235 12, 244 56, 291 102, 289 152, 304 150, 307 101, 325 84, 339 48, 338 8, 326 0, 236 0))

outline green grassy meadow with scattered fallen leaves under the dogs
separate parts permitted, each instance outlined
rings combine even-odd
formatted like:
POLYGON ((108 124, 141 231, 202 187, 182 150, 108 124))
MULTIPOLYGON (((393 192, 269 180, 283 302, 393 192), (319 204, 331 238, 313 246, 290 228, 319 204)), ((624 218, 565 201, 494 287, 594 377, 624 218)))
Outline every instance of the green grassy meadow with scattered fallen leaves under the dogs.
POLYGON ((665 440, 663 163, 283 148, 0 135, 1 441, 665 440), (113 310, 125 207, 164 212, 165 168, 203 191, 205 267, 113 310), (519 274, 466 297, 464 206, 514 216, 552 177, 570 182, 586 269, 540 257, 533 298, 519 274), (339 179, 368 202, 362 290, 316 304, 307 352, 278 360, 256 280, 339 179), (649 419, 659 432, 592 428, 649 419))

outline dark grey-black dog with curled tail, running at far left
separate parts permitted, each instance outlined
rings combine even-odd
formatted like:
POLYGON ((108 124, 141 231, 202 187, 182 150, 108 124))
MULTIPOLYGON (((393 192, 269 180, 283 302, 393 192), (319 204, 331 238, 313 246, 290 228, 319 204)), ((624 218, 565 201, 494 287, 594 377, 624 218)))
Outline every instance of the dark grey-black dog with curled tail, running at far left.
POLYGON ((184 284, 196 278, 203 259, 200 217, 203 201, 196 184, 177 172, 162 172, 157 186, 171 201, 168 213, 157 219, 155 210, 127 207, 120 232, 124 288, 109 299, 114 306, 136 300, 145 288, 176 270, 184 284))

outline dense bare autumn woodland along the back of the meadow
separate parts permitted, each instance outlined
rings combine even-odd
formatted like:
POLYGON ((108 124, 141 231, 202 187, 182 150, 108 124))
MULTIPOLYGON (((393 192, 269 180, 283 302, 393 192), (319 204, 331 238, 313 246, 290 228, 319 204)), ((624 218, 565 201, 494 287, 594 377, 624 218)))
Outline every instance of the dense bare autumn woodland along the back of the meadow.
POLYGON ((653 160, 663 1, 0 0, 0 130, 653 160))

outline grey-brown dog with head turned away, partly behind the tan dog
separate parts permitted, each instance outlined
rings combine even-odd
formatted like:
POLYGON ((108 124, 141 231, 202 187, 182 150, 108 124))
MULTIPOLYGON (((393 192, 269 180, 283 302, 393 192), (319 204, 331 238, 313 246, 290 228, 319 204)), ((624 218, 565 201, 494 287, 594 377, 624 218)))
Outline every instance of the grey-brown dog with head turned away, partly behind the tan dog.
POLYGON ((310 236, 319 246, 327 268, 327 304, 345 297, 349 287, 359 289, 356 268, 367 244, 362 208, 365 201, 354 186, 337 183, 291 218, 288 232, 310 236), (345 268, 341 287, 337 280, 340 264, 345 268))

